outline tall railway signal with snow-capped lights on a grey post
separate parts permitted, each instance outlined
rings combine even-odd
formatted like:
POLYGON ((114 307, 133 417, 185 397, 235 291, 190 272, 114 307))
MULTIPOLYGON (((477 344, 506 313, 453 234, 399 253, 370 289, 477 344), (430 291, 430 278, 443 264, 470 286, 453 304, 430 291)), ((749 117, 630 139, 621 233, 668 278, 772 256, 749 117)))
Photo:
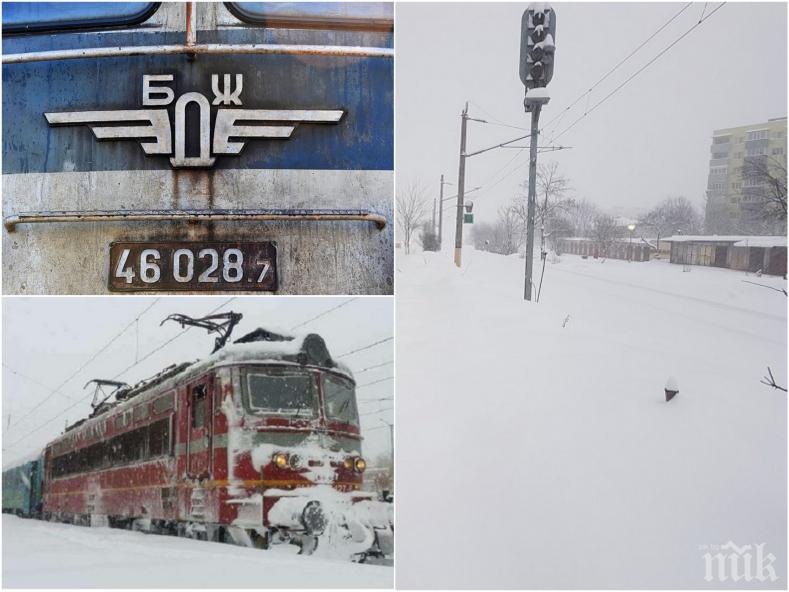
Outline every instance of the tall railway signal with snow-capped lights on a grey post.
POLYGON ((530 4, 521 17, 520 78, 526 87, 523 106, 531 113, 529 150, 529 201, 526 220, 526 269, 523 287, 525 300, 532 299, 534 267, 534 210, 537 181, 537 139, 540 110, 550 100, 545 87, 553 78, 556 52, 556 12, 543 2, 530 4), (531 91, 531 92, 530 92, 531 91))

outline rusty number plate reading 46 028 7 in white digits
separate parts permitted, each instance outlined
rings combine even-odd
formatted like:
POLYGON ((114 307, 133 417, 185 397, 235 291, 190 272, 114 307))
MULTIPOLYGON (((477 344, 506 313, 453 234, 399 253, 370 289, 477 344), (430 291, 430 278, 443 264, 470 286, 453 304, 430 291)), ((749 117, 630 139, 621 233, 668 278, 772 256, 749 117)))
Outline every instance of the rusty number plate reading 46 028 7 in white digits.
POLYGON ((278 287, 274 242, 112 243, 109 287, 151 290, 263 290, 278 287))

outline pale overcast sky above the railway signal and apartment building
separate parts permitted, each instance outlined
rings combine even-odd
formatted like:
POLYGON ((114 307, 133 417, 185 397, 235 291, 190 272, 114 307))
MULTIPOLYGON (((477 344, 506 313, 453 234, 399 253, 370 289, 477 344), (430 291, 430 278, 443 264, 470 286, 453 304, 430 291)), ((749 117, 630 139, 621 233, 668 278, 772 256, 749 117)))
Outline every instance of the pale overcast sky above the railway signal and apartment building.
MULTIPOLYGON (((419 180, 432 204, 441 173, 457 183, 465 101, 472 117, 528 128, 518 76, 521 15, 527 5, 397 5, 399 188, 419 180)), ((548 126, 544 137, 569 126, 587 105, 591 108, 718 5, 692 4, 595 88, 588 101, 579 101, 558 125, 548 126)), ((556 61, 541 127, 683 6, 553 3, 556 61)), ((786 55, 785 3, 728 3, 556 141, 572 150, 540 155, 540 161, 556 160, 575 197, 615 215, 637 215, 677 195, 702 207, 713 130, 786 115, 786 55)), ((470 122, 468 151, 527 132, 470 122)), ((484 187, 469 196, 477 219, 495 218, 498 206, 527 177, 528 150, 498 149, 470 158, 466 187, 484 187)), ((452 185, 445 195, 456 191, 452 185)), ((447 205, 445 215, 451 218, 454 210, 447 205)), ((451 224, 445 217, 445 233, 451 224)))

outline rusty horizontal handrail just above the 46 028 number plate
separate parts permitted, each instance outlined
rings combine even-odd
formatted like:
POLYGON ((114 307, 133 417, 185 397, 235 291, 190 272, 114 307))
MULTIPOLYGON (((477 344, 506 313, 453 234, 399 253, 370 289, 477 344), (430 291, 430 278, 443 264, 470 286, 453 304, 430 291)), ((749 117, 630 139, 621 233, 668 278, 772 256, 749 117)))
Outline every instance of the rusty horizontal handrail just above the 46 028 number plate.
POLYGON ((7 216, 3 225, 14 232, 19 224, 54 222, 213 222, 213 221, 359 221, 373 222, 378 230, 386 227, 386 218, 369 210, 86 210, 22 212, 7 216))

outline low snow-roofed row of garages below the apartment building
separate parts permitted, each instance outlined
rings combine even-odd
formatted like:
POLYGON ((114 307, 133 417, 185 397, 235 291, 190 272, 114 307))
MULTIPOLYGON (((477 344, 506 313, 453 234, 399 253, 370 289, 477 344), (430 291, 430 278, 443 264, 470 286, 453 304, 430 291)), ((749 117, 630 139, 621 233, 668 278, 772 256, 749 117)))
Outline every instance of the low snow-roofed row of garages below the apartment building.
POLYGON ((671 244, 671 263, 786 275, 785 236, 679 235, 663 241, 671 244))

